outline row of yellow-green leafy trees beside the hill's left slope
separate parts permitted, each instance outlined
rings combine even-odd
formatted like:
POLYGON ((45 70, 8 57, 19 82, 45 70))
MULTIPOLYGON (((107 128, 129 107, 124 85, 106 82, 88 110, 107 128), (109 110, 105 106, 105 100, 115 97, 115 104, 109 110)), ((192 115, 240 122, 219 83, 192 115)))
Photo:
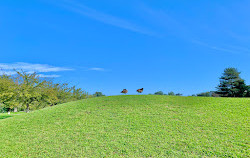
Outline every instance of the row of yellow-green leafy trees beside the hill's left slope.
POLYGON ((89 95, 68 83, 55 83, 37 73, 16 71, 16 75, 0 76, 0 112, 36 110, 70 101, 103 96, 101 92, 89 95))

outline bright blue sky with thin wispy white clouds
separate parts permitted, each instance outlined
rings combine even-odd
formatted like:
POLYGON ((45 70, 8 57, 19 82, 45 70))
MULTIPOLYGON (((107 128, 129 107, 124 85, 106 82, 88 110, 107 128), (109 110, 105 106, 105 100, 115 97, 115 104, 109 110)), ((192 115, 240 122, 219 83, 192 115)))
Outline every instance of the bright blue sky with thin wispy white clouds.
POLYGON ((0 1, 1 73, 37 71, 94 93, 192 95, 226 67, 250 84, 249 0, 0 1))

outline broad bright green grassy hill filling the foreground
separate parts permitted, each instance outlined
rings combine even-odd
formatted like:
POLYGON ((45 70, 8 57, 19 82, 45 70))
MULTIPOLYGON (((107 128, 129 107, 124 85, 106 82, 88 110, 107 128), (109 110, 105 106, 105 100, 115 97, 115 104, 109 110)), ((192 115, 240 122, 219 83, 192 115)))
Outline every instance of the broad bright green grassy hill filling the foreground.
POLYGON ((248 157, 250 99, 112 96, 0 120, 0 157, 248 157))

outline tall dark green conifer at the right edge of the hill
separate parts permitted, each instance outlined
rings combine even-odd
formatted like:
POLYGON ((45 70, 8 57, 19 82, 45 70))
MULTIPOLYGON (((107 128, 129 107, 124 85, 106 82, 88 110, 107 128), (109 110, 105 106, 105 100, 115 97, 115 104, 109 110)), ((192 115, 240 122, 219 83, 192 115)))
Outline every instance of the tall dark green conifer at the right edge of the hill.
POLYGON ((216 93, 222 97, 243 97, 247 86, 236 68, 226 68, 217 89, 216 93))

